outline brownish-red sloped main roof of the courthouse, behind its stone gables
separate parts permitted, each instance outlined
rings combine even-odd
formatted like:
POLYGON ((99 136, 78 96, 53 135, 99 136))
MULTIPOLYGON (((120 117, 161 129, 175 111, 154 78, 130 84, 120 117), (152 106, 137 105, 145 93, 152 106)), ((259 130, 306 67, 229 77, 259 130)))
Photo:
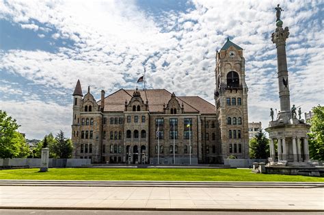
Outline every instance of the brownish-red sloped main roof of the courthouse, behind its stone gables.
MULTIPOLYGON (((120 89, 113 94, 105 97, 105 112, 123 112, 125 110, 125 100, 129 102, 135 90, 120 89)), ((171 99, 171 92, 165 89, 138 90, 141 98, 146 102, 148 99, 148 108, 150 112, 163 112, 171 99)), ((185 112, 194 112, 201 114, 215 114, 215 106, 200 97, 176 97, 180 106, 183 104, 185 112)), ((100 104, 100 101, 97 102, 100 104)))

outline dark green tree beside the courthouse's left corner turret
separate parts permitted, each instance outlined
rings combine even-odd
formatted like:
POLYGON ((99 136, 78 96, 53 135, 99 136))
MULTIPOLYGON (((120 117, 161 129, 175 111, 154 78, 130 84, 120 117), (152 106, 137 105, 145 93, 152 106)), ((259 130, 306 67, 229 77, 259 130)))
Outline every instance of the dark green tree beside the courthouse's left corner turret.
POLYGON ((59 131, 59 133, 57 133, 55 140, 56 140, 56 144, 53 146, 53 153, 55 153, 56 157, 57 158, 72 157, 72 142, 70 139, 64 137, 63 131, 59 131))

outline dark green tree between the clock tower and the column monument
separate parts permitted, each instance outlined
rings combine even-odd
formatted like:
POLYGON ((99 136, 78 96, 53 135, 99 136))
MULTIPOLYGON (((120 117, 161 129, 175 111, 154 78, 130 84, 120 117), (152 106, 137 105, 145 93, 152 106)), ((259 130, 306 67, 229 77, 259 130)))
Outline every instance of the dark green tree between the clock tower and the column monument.
POLYGON ((249 141, 249 157, 252 159, 267 159, 270 155, 269 140, 262 129, 249 141))

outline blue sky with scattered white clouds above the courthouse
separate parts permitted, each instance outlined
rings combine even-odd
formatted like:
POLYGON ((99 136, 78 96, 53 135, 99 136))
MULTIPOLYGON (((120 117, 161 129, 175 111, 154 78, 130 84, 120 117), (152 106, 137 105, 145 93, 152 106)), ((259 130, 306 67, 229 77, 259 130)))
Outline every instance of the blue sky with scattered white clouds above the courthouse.
POLYGON ((215 103, 215 52, 229 37, 243 48, 249 122, 266 128, 269 108, 280 110, 277 3, 291 104, 308 112, 324 103, 323 1, 0 0, 0 110, 26 138, 70 137, 77 79, 99 100, 102 89, 136 88, 144 67, 147 88, 215 103))

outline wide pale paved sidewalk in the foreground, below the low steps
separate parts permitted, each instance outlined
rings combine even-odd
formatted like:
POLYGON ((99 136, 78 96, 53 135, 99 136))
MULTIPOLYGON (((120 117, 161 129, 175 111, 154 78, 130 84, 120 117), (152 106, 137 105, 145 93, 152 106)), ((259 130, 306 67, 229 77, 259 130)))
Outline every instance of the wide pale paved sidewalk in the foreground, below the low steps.
POLYGON ((0 208, 324 211, 324 188, 0 186, 0 208))

